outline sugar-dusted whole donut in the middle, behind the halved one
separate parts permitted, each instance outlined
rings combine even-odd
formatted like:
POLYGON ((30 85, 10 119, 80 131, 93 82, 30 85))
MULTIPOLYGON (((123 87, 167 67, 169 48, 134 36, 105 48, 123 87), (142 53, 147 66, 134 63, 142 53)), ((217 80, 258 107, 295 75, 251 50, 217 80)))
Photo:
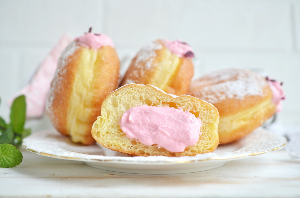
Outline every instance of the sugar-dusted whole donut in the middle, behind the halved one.
POLYGON ((180 40, 155 40, 134 57, 120 86, 128 83, 152 84, 167 93, 187 93, 194 75, 192 48, 180 40))

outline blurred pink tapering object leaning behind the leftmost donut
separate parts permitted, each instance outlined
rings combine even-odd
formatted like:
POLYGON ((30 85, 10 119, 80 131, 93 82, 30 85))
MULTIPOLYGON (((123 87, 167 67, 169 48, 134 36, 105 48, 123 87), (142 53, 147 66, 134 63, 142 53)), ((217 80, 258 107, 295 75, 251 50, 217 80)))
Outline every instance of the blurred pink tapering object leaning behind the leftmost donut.
POLYGON ((8 101, 8 106, 11 106, 14 98, 19 95, 25 95, 26 118, 40 118, 44 114, 46 98, 57 67, 58 58, 64 48, 72 41, 73 38, 68 34, 61 37, 43 63, 37 68, 29 83, 8 101))

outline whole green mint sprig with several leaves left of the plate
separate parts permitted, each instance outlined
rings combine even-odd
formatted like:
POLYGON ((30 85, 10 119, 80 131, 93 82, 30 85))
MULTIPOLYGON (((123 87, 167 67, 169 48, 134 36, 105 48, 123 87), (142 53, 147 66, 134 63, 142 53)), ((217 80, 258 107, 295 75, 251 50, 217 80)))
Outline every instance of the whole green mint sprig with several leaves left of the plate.
POLYGON ((17 148, 23 138, 31 134, 31 129, 24 128, 25 121, 26 102, 25 96, 21 95, 11 105, 10 124, 0 117, 0 167, 15 167, 22 162, 22 153, 17 148))

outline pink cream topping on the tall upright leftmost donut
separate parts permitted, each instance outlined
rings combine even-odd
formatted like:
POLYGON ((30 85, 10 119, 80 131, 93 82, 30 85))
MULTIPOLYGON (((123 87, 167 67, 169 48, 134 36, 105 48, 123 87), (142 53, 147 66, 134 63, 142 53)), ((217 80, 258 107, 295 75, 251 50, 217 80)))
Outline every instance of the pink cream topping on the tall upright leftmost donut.
POLYGON ((75 40, 77 40, 79 44, 93 49, 98 49, 107 45, 114 48, 113 40, 105 34, 94 34, 88 32, 76 38, 75 40))

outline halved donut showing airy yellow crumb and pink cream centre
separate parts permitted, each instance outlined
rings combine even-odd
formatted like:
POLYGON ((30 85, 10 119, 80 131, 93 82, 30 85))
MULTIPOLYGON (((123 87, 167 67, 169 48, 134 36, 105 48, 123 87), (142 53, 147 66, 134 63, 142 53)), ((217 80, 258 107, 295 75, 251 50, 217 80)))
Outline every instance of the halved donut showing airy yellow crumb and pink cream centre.
POLYGON ((217 109, 199 98, 132 83, 107 96, 91 133, 130 156, 195 156, 216 149, 218 121, 217 109))

